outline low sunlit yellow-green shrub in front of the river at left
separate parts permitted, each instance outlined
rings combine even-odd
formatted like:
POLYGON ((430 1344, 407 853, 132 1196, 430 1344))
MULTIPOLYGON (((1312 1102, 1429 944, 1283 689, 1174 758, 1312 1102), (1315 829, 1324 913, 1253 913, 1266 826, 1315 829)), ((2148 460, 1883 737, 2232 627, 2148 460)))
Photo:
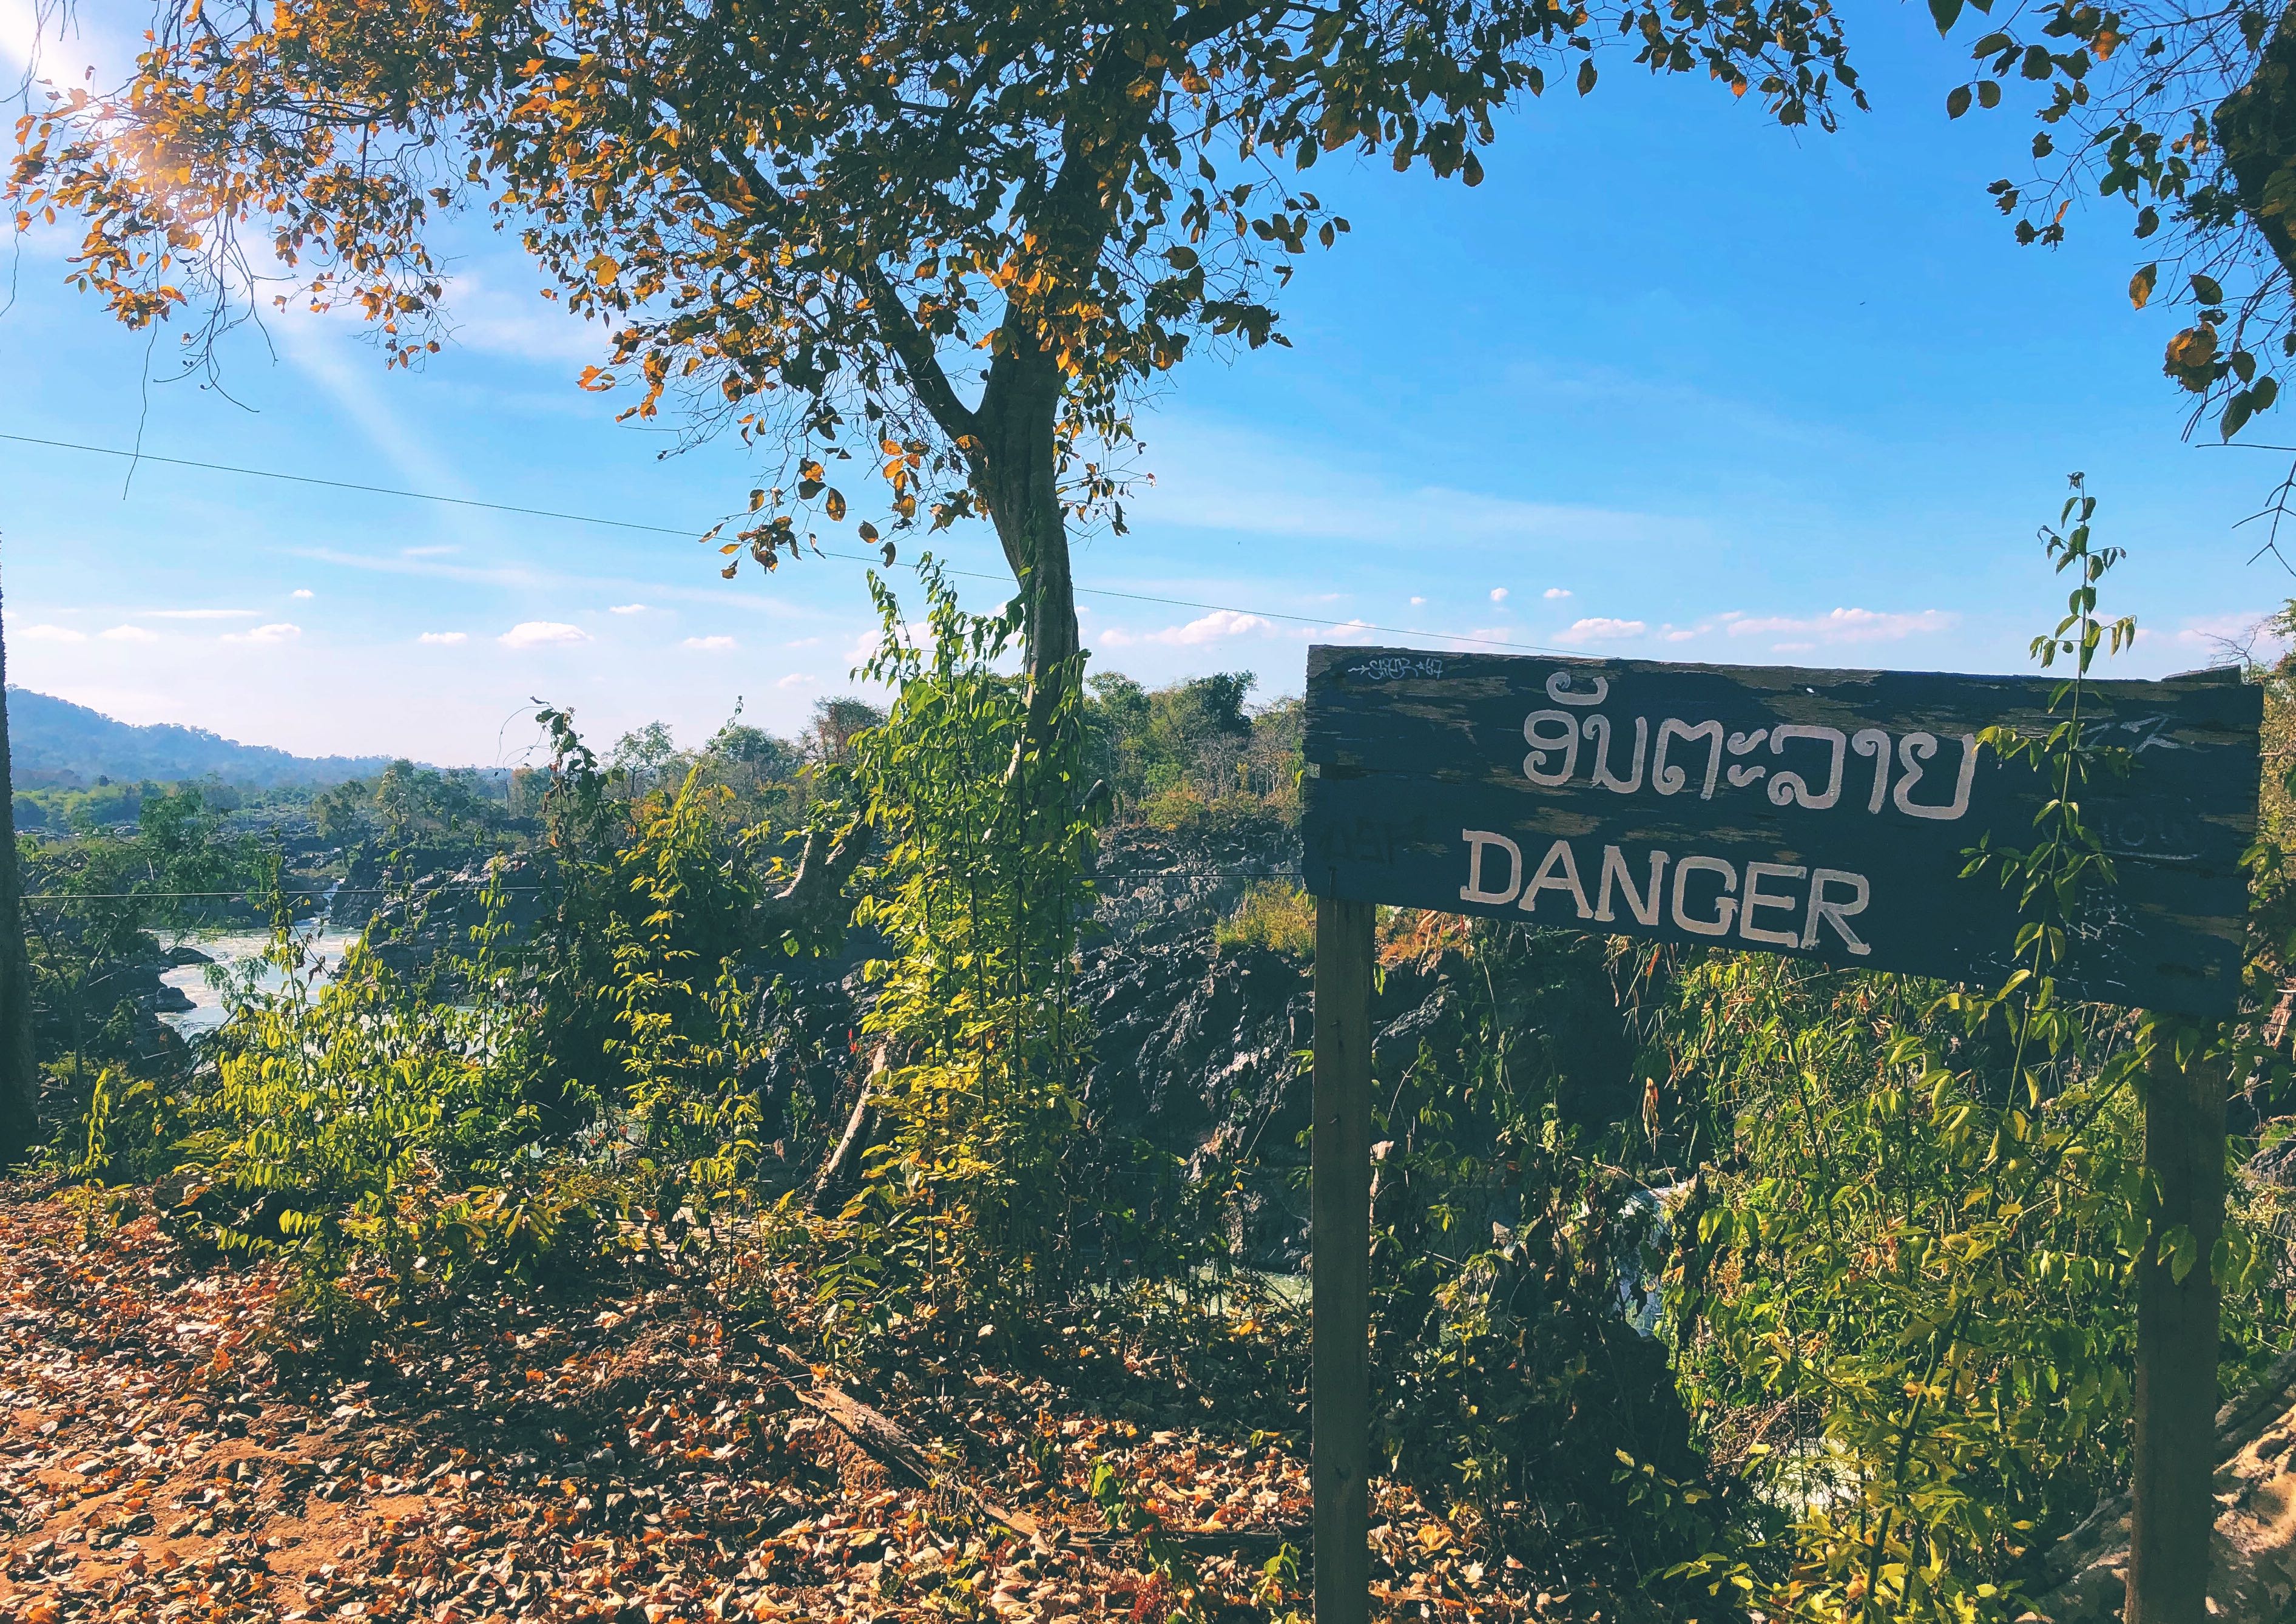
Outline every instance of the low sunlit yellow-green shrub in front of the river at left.
MULTIPOLYGON (((489 894, 498 917, 503 894, 489 894)), ((289 1309, 321 1341, 441 1293, 595 1263, 625 1197, 611 1169, 546 1146, 526 1100, 530 1006, 501 928, 422 979, 354 942, 333 976, 285 919, 227 992, 202 1068, 172 1100, 170 1222, 296 1266, 289 1309), (452 985, 452 995, 448 995, 452 985)), ((133 1098, 133 1096, 131 1096, 133 1098)))

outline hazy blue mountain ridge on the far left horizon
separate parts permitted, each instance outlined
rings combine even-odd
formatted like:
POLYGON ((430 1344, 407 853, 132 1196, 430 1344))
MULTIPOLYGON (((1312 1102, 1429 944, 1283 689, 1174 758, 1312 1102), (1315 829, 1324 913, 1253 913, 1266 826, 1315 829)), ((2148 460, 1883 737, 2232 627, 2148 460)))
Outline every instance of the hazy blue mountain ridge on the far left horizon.
POLYGON ((21 687, 7 691, 7 726, 16 788, 85 788, 96 779, 165 783, 207 774, 248 788, 326 786, 390 765, 390 756, 294 756, 207 728, 135 726, 21 687))

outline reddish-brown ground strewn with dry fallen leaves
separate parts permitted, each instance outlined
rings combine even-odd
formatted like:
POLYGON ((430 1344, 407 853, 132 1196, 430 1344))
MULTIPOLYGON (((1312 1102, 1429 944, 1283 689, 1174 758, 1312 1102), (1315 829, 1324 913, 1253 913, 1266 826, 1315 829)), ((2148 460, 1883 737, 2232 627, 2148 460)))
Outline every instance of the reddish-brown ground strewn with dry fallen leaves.
MULTIPOLYGON (((1081 1624, 1164 1619, 1185 1585, 1208 1617, 1304 1608, 1300 1440, 1192 1424, 1107 1337, 1026 1374, 916 1358, 886 1394, 657 1273, 473 1302, 354 1371, 280 1362, 278 1293, 135 1206, 0 1197, 0 1617, 1081 1624)), ((1605 1613, 1403 1491, 1375 1507, 1387 1617, 1605 1613)))

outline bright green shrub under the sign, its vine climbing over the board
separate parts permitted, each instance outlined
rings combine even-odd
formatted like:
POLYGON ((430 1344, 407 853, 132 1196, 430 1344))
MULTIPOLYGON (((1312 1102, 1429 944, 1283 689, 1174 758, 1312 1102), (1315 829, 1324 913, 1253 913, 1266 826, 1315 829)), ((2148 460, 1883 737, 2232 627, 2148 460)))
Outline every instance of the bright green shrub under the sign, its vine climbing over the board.
MULTIPOLYGON (((1773 1615, 2014 1619, 2039 1553, 2126 1479, 2151 1243, 2140 1089, 2174 1027, 2062 1002, 2053 979, 2115 880, 2085 786, 2128 760, 2080 721, 2094 657, 2135 639, 2096 611, 2119 549, 2092 549, 2092 510, 2073 475, 2066 533, 2043 528, 2076 583, 2034 639, 2071 666, 2062 721, 1984 735, 2053 790, 2027 845, 1970 852, 1968 875, 2023 910, 2002 988, 1711 956, 1649 1011, 1644 1068, 1706 1146, 1669 1291, 1683 1392, 1717 1452, 1798 1509, 1784 1562, 1692 1567, 1773 1615)), ((2289 1341, 2285 1296, 2262 1289, 2275 1254, 2268 1213, 2236 1199, 2206 1261, 2227 1376, 2289 1341)))

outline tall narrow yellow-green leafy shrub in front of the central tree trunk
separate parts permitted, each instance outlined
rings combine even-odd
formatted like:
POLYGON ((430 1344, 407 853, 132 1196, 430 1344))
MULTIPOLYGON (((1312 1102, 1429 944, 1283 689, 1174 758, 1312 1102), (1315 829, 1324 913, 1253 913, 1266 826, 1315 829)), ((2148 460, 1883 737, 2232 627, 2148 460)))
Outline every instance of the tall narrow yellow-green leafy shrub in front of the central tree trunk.
POLYGON ((1091 912, 1081 730, 1029 740, 1029 694, 999 671, 1019 609, 969 616, 923 567, 928 645, 875 583, 884 643, 868 675, 898 687, 852 737, 877 829, 854 919, 891 953, 868 965, 863 1034, 889 1130, 820 1275, 836 1312, 1003 1316, 1065 1286, 1077 1224, 1063 1151, 1077 1128, 1088 1027, 1070 997, 1091 912))

